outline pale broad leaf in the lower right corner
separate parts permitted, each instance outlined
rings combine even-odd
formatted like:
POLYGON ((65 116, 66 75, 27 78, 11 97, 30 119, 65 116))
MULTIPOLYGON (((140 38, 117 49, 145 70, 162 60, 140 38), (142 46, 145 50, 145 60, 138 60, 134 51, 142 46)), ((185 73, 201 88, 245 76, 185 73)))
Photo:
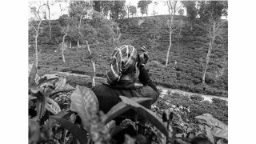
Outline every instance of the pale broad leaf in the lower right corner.
POLYGON ((208 126, 218 126, 219 128, 222 128, 223 130, 228 130, 227 125, 221 121, 219 121, 216 118, 213 118, 212 116, 209 114, 204 114, 204 115, 199 115, 197 118, 199 122, 204 123, 208 126))

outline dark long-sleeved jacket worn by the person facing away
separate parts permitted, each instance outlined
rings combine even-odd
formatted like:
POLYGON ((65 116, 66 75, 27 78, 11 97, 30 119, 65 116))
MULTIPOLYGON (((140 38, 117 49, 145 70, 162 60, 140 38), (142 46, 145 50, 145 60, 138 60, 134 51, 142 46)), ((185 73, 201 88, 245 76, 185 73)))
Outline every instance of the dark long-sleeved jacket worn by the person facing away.
MULTIPOLYGON (((151 105, 156 102, 157 98, 159 97, 158 90, 154 86, 154 83, 150 80, 149 74, 144 67, 140 70, 139 80, 143 83, 143 85, 136 85, 134 82, 120 80, 114 86, 102 83, 101 85, 92 88, 94 94, 98 98, 99 109, 106 114, 114 105, 121 102, 121 98, 119 98, 120 95, 126 96, 127 98, 152 98, 152 101, 141 103, 142 106, 150 109, 151 105)), ((129 110, 115 120, 121 121, 125 118, 130 118, 133 120, 134 111, 129 110)))

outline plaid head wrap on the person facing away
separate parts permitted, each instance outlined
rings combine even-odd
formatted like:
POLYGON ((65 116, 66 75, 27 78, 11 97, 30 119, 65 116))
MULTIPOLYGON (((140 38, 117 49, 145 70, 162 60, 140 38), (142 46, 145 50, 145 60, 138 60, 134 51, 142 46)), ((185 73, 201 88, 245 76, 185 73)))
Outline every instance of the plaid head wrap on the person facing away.
POLYGON ((134 46, 123 45, 114 49, 110 69, 106 70, 106 82, 110 85, 119 81, 122 74, 137 60, 138 51, 134 46))

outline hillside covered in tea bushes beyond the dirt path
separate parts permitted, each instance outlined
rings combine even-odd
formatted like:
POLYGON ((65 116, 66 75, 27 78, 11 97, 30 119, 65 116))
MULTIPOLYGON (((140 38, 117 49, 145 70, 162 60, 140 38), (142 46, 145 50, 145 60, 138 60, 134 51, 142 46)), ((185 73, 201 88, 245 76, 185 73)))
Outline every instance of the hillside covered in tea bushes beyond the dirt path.
MULTIPOLYGON (((183 26, 182 30, 174 31, 172 38, 172 49, 170 50, 170 63, 164 67, 166 52, 169 46, 169 34, 165 15, 142 18, 126 18, 118 20, 122 36, 120 44, 130 44, 135 47, 146 46, 149 49, 150 62, 146 69, 150 71, 151 78, 158 85, 187 90, 200 94, 211 94, 227 97, 228 93, 228 27, 223 30, 223 38, 217 38, 214 50, 210 56, 210 65, 206 73, 206 89, 201 85, 202 64, 204 64, 208 39, 206 33, 198 26, 194 26, 190 31, 190 26, 183 26), (158 22, 158 23, 156 23, 158 22), (159 24, 159 25, 156 25, 159 24), (154 29, 158 29, 158 37, 153 42, 154 29), (179 31, 181 32, 179 34, 179 31), (178 39, 179 38, 179 39, 178 39), (175 64, 176 63, 176 64, 175 64)), ((183 17, 176 17, 176 23, 182 22, 183 17)), ((92 74, 89 54, 86 49, 66 50, 66 62, 62 62, 62 57, 58 50, 58 44, 62 41, 60 25, 58 20, 51 22, 52 38, 49 38, 48 23, 42 22, 42 33, 39 34, 38 44, 42 50, 39 55, 38 69, 44 70, 70 71, 78 74, 92 74)), ((29 31, 29 42, 33 44, 34 38, 32 30, 29 31)), ((76 42, 72 42, 75 46, 76 42)), ((105 71, 109 66, 110 54, 113 44, 102 43, 91 46, 96 59, 96 75, 105 77, 105 71)), ((33 46, 29 50, 30 62, 34 60, 33 46)), ((78 81, 79 84, 80 81, 78 81)))

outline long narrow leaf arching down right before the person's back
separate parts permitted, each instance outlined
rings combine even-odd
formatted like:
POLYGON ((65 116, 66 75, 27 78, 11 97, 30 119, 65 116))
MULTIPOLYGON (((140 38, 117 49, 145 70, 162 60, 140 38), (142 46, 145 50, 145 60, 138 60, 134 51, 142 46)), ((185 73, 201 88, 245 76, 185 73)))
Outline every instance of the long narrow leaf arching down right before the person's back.
POLYGON ((138 113, 138 115, 142 116, 142 118, 145 118, 146 120, 151 122, 154 126, 158 128, 158 130, 160 130, 163 134, 166 135, 167 138, 169 138, 169 134, 168 134, 168 130, 166 129, 166 126, 162 123, 161 119, 158 118, 156 114, 146 109, 144 106, 141 106, 137 102, 130 100, 130 98, 126 98, 123 96, 120 96, 120 98, 122 99, 122 102, 126 103, 133 110, 135 110, 138 113))

